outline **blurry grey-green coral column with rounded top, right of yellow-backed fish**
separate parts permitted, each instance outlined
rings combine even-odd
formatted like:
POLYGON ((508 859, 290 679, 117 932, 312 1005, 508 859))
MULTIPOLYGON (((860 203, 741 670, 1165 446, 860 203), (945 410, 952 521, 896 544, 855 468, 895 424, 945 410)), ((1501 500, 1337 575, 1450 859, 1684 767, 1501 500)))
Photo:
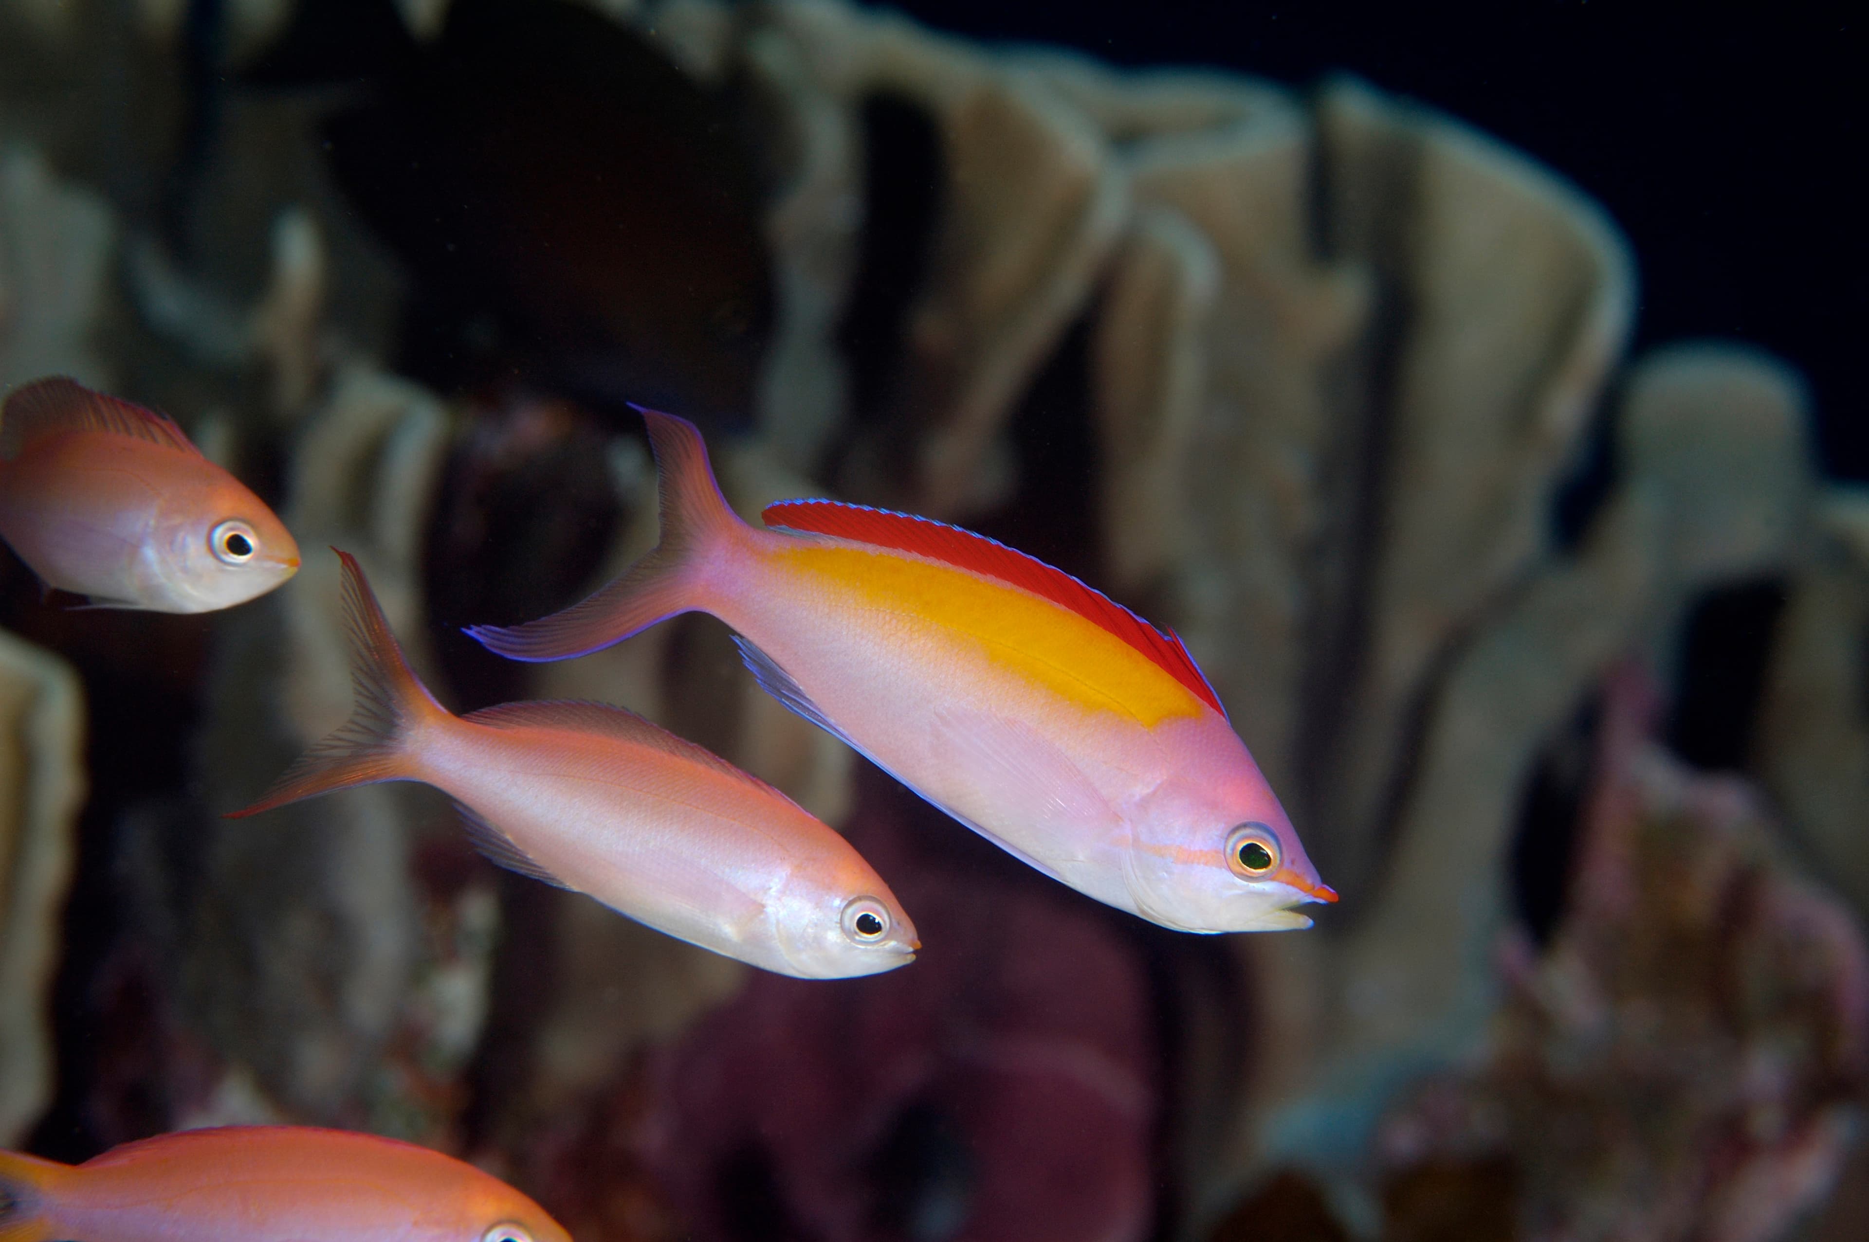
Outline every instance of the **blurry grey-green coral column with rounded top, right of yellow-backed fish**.
POLYGON ((1546 543, 1475 613, 1398 723, 1379 887, 1323 936, 1247 949, 1277 981, 1271 1048, 1290 1050, 1256 1160, 1353 1167, 1400 1085, 1478 1044, 1534 755, 1624 652, 1671 667, 1705 590, 1804 560, 1805 426, 1802 390, 1755 353, 1695 346, 1634 368, 1611 416, 1619 482, 1581 543, 1546 543))

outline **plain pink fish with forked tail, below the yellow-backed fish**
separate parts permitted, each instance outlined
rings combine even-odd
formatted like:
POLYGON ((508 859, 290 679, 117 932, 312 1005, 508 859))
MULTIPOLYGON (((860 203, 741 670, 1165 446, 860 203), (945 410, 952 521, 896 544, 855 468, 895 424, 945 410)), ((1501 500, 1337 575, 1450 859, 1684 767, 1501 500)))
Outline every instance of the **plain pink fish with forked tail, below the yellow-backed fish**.
POLYGON ((355 713, 235 818, 421 781, 454 797, 495 863, 703 949, 802 979, 914 960, 916 928, 875 868, 703 747, 596 702, 449 713, 404 661, 357 560, 338 557, 355 713))

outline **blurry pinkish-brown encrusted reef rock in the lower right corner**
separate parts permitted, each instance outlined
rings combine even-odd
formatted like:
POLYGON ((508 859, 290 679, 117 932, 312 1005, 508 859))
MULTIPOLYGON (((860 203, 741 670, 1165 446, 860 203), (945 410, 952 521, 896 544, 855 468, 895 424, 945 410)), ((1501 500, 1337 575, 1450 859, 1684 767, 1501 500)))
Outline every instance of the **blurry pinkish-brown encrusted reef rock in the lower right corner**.
POLYGON ((1869 1085, 1869 951, 1744 783, 1611 684, 1566 915, 1505 954, 1484 1063, 1383 1124, 1392 1178, 1503 1160, 1521 1238, 1766 1242, 1832 1188, 1869 1085))

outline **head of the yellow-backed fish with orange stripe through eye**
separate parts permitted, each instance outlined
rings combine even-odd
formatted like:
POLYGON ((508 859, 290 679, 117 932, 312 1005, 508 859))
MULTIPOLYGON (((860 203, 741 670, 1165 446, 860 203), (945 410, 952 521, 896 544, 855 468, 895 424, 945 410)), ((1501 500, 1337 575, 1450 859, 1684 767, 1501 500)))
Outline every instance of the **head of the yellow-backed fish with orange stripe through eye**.
POLYGON ((1239 747, 1241 762, 1170 777, 1131 812, 1125 863, 1136 911, 1187 932, 1310 926, 1295 910, 1334 902, 1284 807, 1239 747))

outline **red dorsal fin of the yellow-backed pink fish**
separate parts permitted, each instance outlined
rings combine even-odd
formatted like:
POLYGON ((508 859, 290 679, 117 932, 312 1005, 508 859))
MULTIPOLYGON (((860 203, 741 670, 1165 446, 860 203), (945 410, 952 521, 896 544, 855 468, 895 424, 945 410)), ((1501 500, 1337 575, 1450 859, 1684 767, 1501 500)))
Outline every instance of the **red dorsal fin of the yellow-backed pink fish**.
POLYGON ((1101 590, 1093 590, 1063 570, 1054 570, 1006 543, 961 527, 949 527, 944 521, 839 501, 779 501, 768 504, 761 517, 768 527, 893 547, 899 553, 914 553, 1030 590, 1034 596, 1050 600, 1058 607, 1071 609, 1084 620, 1108 629, 1155 661, 1163 672, 1192 691, 1222 719, 1226 717, 1220 697, 1213 693, 1200 665, 1187 654, 1172 629, 1157 629, 1101 590))

